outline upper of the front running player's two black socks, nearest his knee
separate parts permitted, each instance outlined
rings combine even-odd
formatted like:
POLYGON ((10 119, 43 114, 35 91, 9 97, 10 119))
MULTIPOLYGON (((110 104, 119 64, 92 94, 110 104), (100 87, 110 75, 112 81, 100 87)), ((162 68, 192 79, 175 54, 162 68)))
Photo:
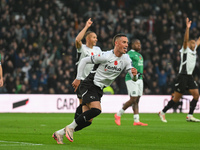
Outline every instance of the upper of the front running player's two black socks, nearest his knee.
POLYGON ((98 116, 100 113, 101 113, 100 109, 91 108, 90 110, 85 111, 84 113, 79 115, 79 117, 75 119, 75 122, 77 123, 77 125, 84 124, 85 122, 89 121, 90 119, 98 116))

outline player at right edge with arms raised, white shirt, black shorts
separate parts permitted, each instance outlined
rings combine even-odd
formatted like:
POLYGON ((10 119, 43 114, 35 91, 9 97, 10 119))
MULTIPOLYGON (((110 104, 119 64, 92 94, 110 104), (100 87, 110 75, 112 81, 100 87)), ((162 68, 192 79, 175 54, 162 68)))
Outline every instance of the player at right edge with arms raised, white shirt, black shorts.
POLYGON ((179 68, 179 74, 175 83, 174 97, 168 102, 162 111, 159 112, 159 117, 162 122, 167 122, 165 119, 165 113, 167 110, 172 108, 184 94, 185 90, 189 89, 189 92, 193 96, 190 102, 190 111, 186 117, 186 121, 200 122, 199 119, 193 117, 193 112, 196 107, 197 101, 199 99, 199 90, 196 81, 192 76, 195 64, 196 64, 196 54, 197 47, 200 44, 200 38, 197 41, 189 40, 189 29, 192 21, 186 19, 186 31, 184 35, 183 47, 180 50, 181 53, 181 64, 179 68))

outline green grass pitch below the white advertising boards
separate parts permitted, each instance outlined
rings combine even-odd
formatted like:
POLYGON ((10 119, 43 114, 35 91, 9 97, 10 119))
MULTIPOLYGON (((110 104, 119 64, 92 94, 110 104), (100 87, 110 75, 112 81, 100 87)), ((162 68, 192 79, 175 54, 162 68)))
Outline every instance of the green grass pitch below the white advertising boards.
MULTIPOLYGON (((0 113, 0 150, 193 150, 200 147, 200 123, 186 122, 186 114, 140 114, 148 126, 133 126, 133 115, 124 114, 121 126, 114 114, 101 114, 93 124, 74 133, 74 142, 64 137, 58 145, 53 132, 73 120, 73 114, 0 113)), ((200 114, 194 114, 200 118, 200 114)))

